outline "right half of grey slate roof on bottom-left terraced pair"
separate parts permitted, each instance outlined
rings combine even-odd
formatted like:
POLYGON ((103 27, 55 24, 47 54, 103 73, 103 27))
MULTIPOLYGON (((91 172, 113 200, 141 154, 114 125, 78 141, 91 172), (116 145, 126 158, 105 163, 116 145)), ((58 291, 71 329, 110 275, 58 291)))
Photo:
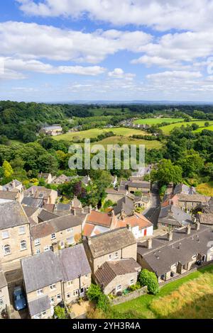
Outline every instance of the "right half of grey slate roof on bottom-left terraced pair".
POLYGON ((58 257, 62 265, 63 281, 72 281, 91 273, 83 244, 60 250, 58 257))

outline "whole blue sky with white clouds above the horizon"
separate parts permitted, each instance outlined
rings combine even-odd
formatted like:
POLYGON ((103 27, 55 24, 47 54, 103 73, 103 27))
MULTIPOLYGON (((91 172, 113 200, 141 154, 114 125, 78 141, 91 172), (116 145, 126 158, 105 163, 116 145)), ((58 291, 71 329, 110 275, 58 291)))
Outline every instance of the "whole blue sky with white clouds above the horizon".
POLYGON ((1 0, 0 100, 213 102, 213 0, 1 0))

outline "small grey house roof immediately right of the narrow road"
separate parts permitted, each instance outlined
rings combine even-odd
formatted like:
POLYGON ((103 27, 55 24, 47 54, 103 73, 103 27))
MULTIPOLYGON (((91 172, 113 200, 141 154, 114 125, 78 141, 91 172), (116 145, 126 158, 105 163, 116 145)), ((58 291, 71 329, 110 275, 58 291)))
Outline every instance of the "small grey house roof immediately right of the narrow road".
POLYGON ((192 217, 190 214, 185 213, 174 205, 166 205, 161 207, 158 222, 165 225, 175 225, 182 227, 182 225, 192 224, 192 217))

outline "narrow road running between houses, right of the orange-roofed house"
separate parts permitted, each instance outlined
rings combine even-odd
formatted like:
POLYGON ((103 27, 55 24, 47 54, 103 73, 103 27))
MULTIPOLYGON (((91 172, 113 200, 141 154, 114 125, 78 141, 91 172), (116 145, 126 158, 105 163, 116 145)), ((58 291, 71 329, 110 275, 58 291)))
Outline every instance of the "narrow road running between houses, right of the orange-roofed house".
POLYGON ((144 210, 143 215, 153 223, 154 227, 157 227, 159 214, 160 196, 158 193, 158 186, 153 184, 153 187, 151 189, 151 207, 144 210))

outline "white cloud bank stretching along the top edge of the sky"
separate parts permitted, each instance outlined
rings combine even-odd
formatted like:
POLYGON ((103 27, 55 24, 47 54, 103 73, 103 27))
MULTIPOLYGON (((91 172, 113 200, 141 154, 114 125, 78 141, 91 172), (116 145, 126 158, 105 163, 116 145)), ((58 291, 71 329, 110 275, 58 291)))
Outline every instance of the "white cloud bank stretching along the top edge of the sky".
POLYGON ((212 0, 16 0, 33 16, 89 16, 115 26, 134 24, 158 30, 200 30, 212 26, 212 0))

